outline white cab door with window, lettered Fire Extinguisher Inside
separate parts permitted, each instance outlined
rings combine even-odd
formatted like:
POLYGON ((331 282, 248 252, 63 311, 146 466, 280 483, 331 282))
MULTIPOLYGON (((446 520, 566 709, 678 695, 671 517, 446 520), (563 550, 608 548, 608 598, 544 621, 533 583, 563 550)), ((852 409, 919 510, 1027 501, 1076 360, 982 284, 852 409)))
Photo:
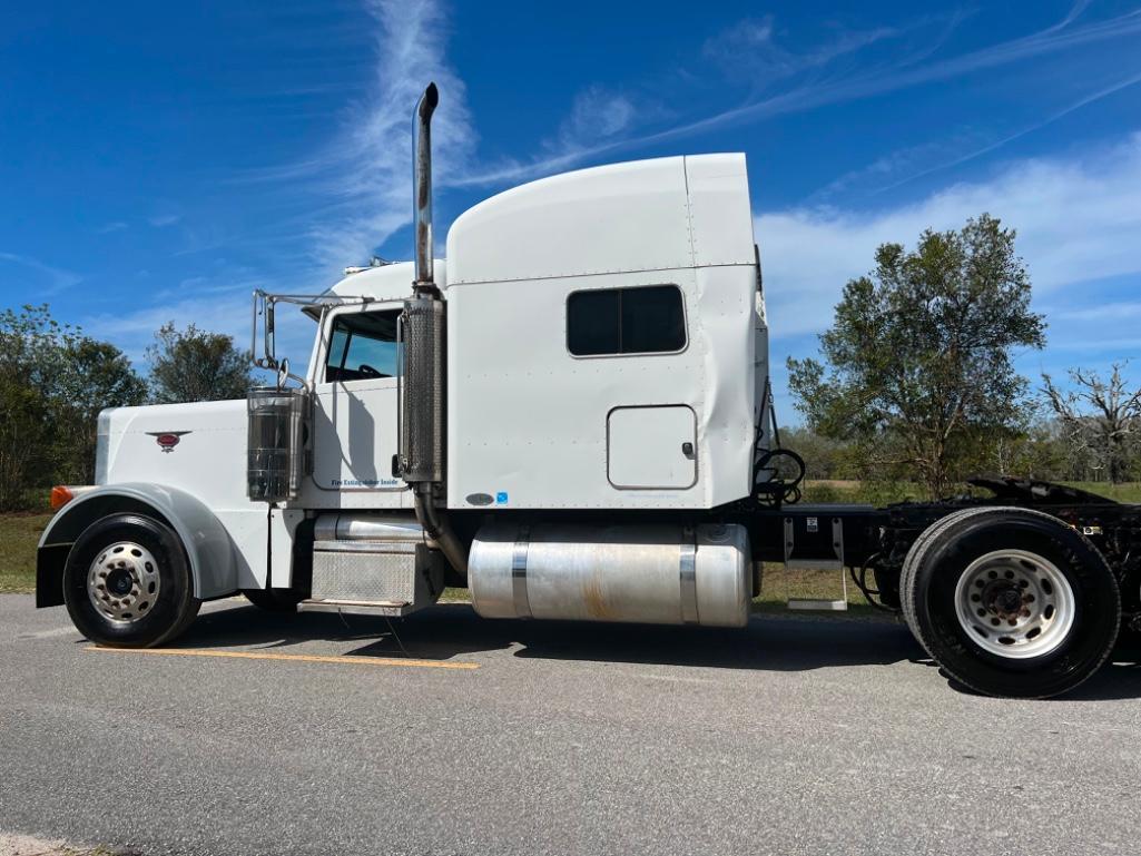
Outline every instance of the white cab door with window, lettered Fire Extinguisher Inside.
POLYGON ((313 478, 322 490, 387 491, 398 504, 395 494, 405 488, 393 476, 402 308, 330 314, 314 388, 313 478))

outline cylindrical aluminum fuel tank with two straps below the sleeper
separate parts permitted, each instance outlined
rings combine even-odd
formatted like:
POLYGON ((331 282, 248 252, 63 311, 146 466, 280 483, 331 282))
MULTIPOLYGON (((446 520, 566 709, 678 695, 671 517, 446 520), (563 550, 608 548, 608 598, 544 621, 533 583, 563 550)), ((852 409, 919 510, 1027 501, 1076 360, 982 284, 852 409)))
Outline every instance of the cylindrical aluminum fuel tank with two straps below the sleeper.
POLYGON ((736 524, 591 527, 491 523, 468 584, 484 617, 743 627, 748 533, 736 524))

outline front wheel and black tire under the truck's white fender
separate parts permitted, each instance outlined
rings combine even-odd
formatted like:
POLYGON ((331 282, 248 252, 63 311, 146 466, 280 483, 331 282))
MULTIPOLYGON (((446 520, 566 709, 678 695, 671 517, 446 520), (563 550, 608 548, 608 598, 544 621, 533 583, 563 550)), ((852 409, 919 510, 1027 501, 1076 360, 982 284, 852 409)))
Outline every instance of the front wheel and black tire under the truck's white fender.
POLYGON ((178 535, 136 514, 111 515, 83 531, 64 567, 64 603, 83 636, 121 648, 173 639, 202 605, 178 535))

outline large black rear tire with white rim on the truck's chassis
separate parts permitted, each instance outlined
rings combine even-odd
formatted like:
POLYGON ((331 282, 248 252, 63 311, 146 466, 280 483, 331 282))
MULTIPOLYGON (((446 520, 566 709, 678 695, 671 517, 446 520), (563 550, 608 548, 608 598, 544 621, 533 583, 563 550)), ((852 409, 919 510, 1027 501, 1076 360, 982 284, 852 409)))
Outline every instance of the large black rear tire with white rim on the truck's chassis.
POLYGON ((1117 581, 1097 548, 1050 515, 970 509, 931 527, 904 563, 907 623, 953 678, 988 695, 1073 689, 1117 638, 1117 581))

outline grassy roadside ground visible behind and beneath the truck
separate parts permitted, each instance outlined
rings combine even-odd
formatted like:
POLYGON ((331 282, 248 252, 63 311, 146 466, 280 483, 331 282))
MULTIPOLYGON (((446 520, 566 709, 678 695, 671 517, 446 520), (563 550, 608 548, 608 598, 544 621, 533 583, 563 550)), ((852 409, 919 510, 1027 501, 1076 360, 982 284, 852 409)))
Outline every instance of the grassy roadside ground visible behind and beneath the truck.
MULTIPOLYGON (((1141 503, 1141 482, 1109 485, 1075 482, 1074 487, 1098 493, 1118 502, 1141 503)), ((869 485, 860 482, 806 483, 806 502, 865 502, 884 504, 922 495, 916 485, 895 483, 869 485)), ((0 592, 33 591, 35 588, 35 544, 40 532, 51 515, 0 515, 0 592)), ((839 571, 785 571, 780 565, 768 564, 764 570, 761 596, 754 608, 762 612, 784 611, 788 598, 839 599, 844 596, 839 571)), ((848 580, 847 597, 855 613, 869 612, 863 596, 848 580)), ((445 597, 467 598, 464 589, 450 589, 445 597)))

